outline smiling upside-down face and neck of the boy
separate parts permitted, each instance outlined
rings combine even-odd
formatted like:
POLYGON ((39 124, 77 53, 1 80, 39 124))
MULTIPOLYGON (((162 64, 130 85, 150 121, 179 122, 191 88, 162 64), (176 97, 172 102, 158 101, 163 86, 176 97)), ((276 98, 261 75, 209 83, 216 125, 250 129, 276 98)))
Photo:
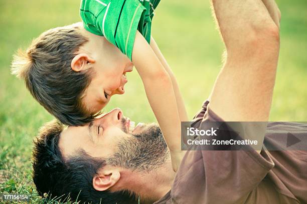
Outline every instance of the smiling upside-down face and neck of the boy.
POLYGON ((112 95, 124 93, 124 85, 128 81, 126 72, 132 71, 133 64, 105 37, 88 32, 82 24, 80 29, 89 41, 78 53, 86 53, 94 59, 88 64, 93 70, 92 78, 81 100, 86 110, 96 113, 109 102, 112 95))

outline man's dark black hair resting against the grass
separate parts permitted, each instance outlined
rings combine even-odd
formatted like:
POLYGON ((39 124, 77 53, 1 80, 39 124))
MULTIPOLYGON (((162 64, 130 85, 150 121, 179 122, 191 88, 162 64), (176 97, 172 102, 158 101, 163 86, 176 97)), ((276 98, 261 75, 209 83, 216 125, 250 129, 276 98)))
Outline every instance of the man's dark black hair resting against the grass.
POLYGON ((92 157, 84 150, 63 158, 58 146, 63 124, 58 120, 46 123, 34 139, 33 180, 41 196, 50 199, 90 203, 137 203, 136 196, 127 190, 110 192, 93 188, 92 179, 106 160, 92 157), (59 198, 60 197, 60 198, 59 198))

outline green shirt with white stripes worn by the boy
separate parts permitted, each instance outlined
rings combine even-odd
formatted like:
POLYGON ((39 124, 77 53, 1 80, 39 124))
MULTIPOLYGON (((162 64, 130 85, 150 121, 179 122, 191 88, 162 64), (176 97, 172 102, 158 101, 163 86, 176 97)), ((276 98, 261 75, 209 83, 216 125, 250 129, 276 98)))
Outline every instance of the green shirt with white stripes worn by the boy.
POLYGON ((151 20, 160 0, 81 0, 84 28, 105 36, 130 60, 138 30, 150 42, 151 20))

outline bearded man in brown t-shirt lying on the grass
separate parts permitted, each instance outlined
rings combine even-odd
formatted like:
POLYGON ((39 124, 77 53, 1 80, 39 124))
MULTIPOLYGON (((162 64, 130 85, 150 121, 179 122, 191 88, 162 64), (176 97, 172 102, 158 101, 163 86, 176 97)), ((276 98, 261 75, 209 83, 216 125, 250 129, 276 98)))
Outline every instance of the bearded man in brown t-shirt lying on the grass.
MULTIPOLYGON (((272 0, 213 0, 213 8, 227 59, 193 125, 267 121, 279 10, 272 0)), ((133 127, 118 108, 84 126, 52 121, 35 141, 33 179, 40 194, 92 203, 307 202, 306 151, 187 151, 175 173, 166 144, 157 125, 133 127)))

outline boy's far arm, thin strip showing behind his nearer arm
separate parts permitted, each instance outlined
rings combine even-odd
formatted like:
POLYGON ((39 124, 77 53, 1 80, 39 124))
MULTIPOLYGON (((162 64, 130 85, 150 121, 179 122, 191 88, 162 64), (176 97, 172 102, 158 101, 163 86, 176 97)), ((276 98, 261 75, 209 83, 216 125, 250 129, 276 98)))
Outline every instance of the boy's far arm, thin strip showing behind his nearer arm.
POLYGON ((187 114, 186 106, 185 106, 184 100, 182 98, 176 77, 175 77, 171 67, 169 66, 167 60, 165 59, 162 52, 160 51, 158 44, 156 43, 154 37, 152 37, 152 36, 150 36, 150 37, 151 37, 150 38, 150 47, 152 48, 152 50, 154 50, 154 52, 158 56, 160 62, 164 66, 165 70, 169 73, 169 75, 171 77, 171 80, 172 80, 172 83, 173 83, 173 89, 174 89, 175 96, 176 96, 176 102, 177 102, 180 120, 181 121, 188 121, 188 114, 187 114))

